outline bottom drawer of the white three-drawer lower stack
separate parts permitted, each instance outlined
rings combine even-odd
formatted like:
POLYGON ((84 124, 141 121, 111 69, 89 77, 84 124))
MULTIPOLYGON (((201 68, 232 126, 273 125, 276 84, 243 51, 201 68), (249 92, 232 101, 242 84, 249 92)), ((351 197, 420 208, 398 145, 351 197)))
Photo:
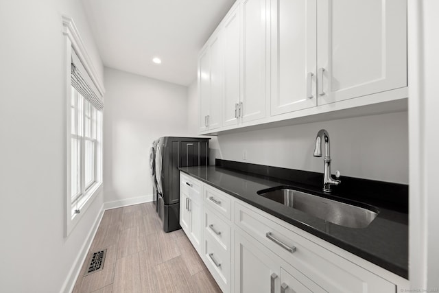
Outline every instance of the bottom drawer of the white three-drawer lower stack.
POLYGON ((224 250, 209 233, 204 235, 204 263, 219 288, 230 292, 230 250, 224 250))

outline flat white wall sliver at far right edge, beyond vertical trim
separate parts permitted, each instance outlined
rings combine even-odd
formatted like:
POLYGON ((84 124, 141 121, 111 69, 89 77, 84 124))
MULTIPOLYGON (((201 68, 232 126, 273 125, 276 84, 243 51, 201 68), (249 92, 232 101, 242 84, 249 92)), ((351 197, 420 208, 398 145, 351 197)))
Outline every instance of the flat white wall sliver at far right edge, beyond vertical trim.
MULTIPOLYGON (((438 67, 439 67, 439 40, 438 31, 439 27, 439 1, 429 0, 424 2, 423 14, 425 29, 424 34, 424 72, 423 78, 425 78, 425 117, 422 117, 423 126, 423 160, 425 165, 420 170, 421 176, 425 179, 424 192, 427 194, 426 200, 421 200, 425 203, 426 211, 424 217, 427 220, 427 284, 426 288, 439 290, 439 196, 438 196, 438 164, 439 164, 439 137, 435 135, 438 131, 439 119, 438 119, 438 67), (425 175, 425 177, 424 177, 425 175)), ((421 118, 421 119, 422 119, 421 118)))

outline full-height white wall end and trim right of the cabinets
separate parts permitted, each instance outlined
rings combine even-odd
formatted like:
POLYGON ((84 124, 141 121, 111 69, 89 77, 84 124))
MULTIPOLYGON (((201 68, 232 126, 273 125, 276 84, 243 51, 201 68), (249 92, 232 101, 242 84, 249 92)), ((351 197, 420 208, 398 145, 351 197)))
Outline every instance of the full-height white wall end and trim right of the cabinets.
POLYGON ((409 276, 413 291, 439 288, 439 1, 408 1, 410 108, 409 276))

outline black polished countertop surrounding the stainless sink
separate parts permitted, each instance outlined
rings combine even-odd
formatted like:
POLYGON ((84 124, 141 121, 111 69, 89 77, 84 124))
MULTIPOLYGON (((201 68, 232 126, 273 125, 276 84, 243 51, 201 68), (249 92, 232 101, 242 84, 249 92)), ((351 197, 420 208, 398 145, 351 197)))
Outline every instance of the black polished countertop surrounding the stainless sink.
POLYGON ((390 272, 405 279, 408 277, 408 213, 404 207, 394 208, 392 204, 385 201, 380 202, 377 198, 368 199, 364 196, 348 198, 344 195, 346 190, 340 190, 339 193, 334 190, 333 195, 329 196, 316 186, 300 183, 300 180, 293 181, 263 176, 243 170, 220 167, 218 164, 217 166, 180 167, 180 171, 354 255, 375 263, 377 266, 390 270, 390 272), (366 228, 347 228, 320 220, 257 194, 257 191, 261 189, 279 185, 295 187, 295 189, 327 198, 344 198, 345 202, 346 198, 347 201, 361 199, 361 202, 377 207, 379 213, 377 218, 366 228))

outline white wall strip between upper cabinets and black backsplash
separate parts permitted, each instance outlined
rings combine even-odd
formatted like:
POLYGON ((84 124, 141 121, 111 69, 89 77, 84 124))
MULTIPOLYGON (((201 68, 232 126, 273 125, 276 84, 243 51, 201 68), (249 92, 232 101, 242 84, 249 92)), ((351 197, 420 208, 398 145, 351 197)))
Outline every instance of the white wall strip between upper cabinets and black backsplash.
POLYGON ((333 172, 408 183, 407 112, 224 134, 217 139, 222 159, 323 172, 323 159, 313 156, 321 128, 331 139, 333 172))

